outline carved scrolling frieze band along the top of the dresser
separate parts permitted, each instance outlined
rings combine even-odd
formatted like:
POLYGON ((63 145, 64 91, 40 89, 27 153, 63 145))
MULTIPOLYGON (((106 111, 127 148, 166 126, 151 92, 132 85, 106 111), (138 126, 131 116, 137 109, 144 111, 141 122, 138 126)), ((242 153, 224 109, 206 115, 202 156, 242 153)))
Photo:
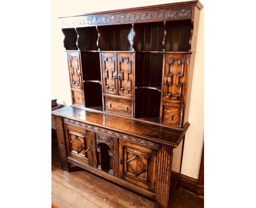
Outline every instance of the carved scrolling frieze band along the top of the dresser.
POLYGON ((62 28, 119 25, 128 23, 157 22, 191 19, 193 7, 172 7, 117 14, 100 14, 62 17, 62 28))

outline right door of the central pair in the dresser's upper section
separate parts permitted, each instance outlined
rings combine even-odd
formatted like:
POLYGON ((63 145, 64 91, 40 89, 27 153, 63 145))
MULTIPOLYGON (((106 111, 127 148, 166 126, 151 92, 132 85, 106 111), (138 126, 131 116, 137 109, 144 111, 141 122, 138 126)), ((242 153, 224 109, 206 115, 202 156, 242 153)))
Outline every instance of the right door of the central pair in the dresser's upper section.
POLYGON ((118 53, 118 91, 119 95, 133 97, 135 86, 135 62, 133 53, 118 53))

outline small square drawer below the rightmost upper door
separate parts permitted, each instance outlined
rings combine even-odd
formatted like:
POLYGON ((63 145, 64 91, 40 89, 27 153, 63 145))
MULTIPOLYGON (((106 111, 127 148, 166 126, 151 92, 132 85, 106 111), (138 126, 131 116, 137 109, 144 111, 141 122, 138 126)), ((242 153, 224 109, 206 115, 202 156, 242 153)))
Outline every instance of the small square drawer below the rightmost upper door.
POLYGON ((181 128, 183 126, 182 124, 183 107, 171 107, 171 106, 162 106, 162 107, 164 111, 163 123, 181 128))

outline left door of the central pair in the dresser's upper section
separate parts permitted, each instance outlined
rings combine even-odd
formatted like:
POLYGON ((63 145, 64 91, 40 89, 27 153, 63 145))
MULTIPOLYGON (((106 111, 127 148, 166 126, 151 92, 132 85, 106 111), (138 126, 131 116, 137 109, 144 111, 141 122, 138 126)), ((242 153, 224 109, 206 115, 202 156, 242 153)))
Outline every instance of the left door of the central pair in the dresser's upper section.
POLYGON ((103 93, 118 95, 117 53, 101 53, 103 93))

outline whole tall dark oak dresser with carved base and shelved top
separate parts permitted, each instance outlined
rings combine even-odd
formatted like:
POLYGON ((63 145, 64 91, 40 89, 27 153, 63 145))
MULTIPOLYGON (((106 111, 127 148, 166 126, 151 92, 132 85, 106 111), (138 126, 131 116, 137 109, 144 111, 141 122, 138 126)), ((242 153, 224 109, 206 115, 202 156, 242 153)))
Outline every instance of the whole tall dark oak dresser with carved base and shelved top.
POLYGON ((201 8, 190 1, 60 18, 72 96, 52 112, 62 169, 83 168, 168 207, 201 8))

